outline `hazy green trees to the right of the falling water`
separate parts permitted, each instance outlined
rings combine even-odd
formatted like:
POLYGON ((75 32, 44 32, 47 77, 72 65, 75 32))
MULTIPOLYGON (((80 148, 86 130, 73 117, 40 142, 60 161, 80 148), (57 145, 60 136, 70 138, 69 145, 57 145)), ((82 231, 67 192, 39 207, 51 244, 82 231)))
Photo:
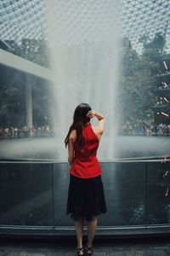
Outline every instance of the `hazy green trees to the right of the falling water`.
POLYGON ((143 44, 142 55, 137 54, 127 38, 122 42, 122 79, 118 104, 122 122, 126 119, 146 119, 148 113, 153 116, 165 39, 157 33, 153 40, 142 37, 139 42, 143 44))

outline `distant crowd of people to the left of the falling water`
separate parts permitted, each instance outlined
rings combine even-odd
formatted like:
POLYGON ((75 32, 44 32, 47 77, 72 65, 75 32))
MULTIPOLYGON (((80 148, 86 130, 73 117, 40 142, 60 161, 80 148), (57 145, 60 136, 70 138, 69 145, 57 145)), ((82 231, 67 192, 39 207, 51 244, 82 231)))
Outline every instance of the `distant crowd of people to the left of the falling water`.
POLYGON ((23 127, 2 127, 0 126, 0 138, 19 138, 19 137, 50 137, 54 135, 54 127, 50 125, 28 128, 23 127))

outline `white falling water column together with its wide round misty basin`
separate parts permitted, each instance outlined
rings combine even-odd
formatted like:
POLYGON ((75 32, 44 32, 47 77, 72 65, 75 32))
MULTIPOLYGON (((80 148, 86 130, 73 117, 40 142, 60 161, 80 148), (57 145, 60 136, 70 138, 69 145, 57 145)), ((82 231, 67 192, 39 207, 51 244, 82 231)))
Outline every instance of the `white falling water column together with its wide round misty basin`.
MULTIPOLYGON (((65 135, 80 102, 88 102, 94 110, 105 114, 99 160, 157 158, 170 154, 167 138, 116 137, 120 114, 116 109, 121 44, 119 10, 118 1, 58 1, 56 4, 52 0, 47 4, 53 70, 50 79, 54 81, 48 88, 54 96, 52 116, 56 137, 1 141, 1 159, 65 161, 65 135)), ((94 119, 92 123, 96 124, 94 119)))

